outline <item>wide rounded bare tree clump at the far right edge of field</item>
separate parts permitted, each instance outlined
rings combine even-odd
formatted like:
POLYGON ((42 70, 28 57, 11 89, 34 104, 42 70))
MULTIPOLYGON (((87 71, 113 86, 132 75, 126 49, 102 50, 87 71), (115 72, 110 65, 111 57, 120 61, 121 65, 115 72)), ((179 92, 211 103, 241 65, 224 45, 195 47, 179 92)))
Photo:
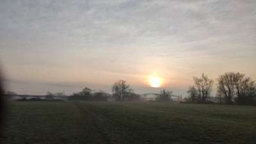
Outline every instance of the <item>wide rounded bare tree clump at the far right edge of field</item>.
POLYGON ((239 72, 227 72, 218 78, 218 95, 226 104, 250 104, 255 99, 255 82, 239 72))

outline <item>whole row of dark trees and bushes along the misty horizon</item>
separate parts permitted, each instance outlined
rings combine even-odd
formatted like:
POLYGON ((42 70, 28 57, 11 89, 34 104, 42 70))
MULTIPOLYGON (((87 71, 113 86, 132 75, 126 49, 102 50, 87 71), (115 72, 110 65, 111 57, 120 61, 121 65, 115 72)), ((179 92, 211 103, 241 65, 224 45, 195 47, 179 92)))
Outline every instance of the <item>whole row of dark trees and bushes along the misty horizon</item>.
MULTIPOLYGON (((216 95, 212 97, 214 81, 202 74, 193 77, 194 84, 189 86, 189 97, 185 102, 189 103, 212 103, 256 105, 256 83, 251 77, 239 72, 226 72, 216 79, 216 95)), ((68 100, 90 100, 90 101, 140 101, 141 96, 124 80, 119 80, 111 86, 112 94, 106 92, 93 92, 90 88, 84 88, 81 92, 73 93, 68 100)), ((17 95, 15 92, 5 92, 5 95, 17 95)), ((46 99, 52 100, 54 96, 63 96, 64 93, 47 92, 46 99)), ((161 90, 157 94, 157 102, 172 101, 172 92, 161 90)))

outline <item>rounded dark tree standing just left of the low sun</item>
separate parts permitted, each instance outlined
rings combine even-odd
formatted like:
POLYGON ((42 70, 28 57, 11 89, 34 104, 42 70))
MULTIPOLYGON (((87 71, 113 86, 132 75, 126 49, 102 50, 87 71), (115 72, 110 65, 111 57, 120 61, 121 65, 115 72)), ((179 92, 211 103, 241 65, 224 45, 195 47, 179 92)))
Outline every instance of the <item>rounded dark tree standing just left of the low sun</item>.
POLYGON ((133 92, 133 90, 130 88, 129 84, 126 84, 124 80, 119 80, 113 84, 112 92, 116 100, 122 101, 124 100, 125 95, 133 92))

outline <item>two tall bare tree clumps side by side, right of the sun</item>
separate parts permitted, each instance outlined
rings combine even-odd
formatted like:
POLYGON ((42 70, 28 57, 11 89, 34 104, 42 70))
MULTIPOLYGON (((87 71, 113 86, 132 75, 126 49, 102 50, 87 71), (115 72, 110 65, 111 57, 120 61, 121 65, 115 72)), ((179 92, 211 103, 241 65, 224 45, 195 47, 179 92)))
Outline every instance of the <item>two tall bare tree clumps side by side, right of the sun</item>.
MULTIPOLYGON (((186 102, 211 102, 214 81, 202 74, 193 77, 194 85, 189 87, 186 102)), ((256 105, 256 84, 251 77, 239 72, 226 72, 218 77, 216 98, 220 104, 256 105)))

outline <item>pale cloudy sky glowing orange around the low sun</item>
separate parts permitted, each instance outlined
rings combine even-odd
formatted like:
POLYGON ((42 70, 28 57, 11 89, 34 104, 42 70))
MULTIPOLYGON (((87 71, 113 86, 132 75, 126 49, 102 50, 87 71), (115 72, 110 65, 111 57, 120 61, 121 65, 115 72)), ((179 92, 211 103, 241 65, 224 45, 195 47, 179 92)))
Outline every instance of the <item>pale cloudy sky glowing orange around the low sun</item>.
POLYGON ((255 0, 0 0, 6 90, 43 95, 111 92, 186 95, 203 72, 256 78, 255 0), (148 76, 163 78, 152 88, 148 76))

